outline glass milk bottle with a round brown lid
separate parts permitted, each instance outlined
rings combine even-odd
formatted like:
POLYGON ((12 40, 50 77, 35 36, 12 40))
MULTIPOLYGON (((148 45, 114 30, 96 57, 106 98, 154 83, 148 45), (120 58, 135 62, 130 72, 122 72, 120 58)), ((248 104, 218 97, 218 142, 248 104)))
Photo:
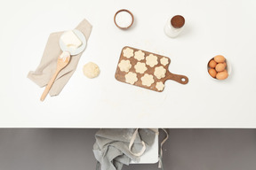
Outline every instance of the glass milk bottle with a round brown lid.
POLYGON ((180 35, 184 25, 185 19, 181 15, 175 15, 166 22, 164 26, 164 33, 171 38, 175 38, 180 35))

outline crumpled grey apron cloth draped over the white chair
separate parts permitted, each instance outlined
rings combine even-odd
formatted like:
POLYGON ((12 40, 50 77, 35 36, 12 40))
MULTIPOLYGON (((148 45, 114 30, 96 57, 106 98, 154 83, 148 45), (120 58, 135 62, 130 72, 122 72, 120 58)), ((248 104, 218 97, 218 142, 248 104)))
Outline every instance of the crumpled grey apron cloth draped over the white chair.
POLYGON ((155 141, 156 132, 150 128, 140 128, 129 151, 135 131, 136 128, 102 128, 96 133, 93 153, 100 163, 101 170, 121 170, 123 165, 128 166, 131 160, 140 160, 140 156, 134 153, 141 151, 142 141, 146 144, 147 151, 155 141))

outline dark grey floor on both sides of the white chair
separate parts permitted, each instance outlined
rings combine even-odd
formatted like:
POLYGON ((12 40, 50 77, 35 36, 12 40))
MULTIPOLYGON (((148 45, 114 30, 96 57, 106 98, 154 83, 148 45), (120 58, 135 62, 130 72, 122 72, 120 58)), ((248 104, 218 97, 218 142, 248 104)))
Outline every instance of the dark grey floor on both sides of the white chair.
MULTIPOLYGON (((92 170, 97 129, 0 129, 0 170, 92 170)), ((255 170, 256 129, 168 129, 164 170, 255 170)), ((164 136, 160 135, 162 139, 164 136)), ((124 166, 156 170, 157 165, 124 166)))

